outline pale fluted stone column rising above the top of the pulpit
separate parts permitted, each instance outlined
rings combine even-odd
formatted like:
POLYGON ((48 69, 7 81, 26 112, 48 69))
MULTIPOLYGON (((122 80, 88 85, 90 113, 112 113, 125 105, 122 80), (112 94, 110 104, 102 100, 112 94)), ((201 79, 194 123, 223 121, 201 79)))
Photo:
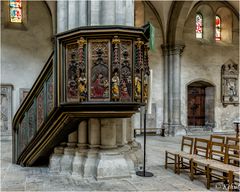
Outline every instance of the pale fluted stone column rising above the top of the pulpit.
POLYGON ((88 25, 134 26, 134 1, 57 1, 58 33, 88 25))

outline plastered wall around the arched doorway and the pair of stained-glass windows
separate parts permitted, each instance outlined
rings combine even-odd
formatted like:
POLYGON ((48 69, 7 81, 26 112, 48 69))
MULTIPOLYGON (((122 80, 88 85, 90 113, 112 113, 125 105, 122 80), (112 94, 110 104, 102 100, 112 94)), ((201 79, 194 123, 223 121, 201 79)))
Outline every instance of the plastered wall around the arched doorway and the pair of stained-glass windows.
POLYGON ((233 12, 223 7, 223 4, 219 2, 209 3, 209 5, 201 4, 200 6, 195 6, 191 11, 184 26, 185 49, 181 61, 181 118, 184 126, 187 126, 186 85, 194 80, 204 79, 215 85, 215 131, 233 129, 232 122, 239 116, 239 106, 228 105, 224 107, 221 102, 221 67, 229 60, 239 64, 238 22, 238 18, 233 12), (195 15, 203 7, 211 7, 204 9, 203 12, 207 34, 204 36, 205 31, 203 31, 203 39, 196 39, 195 15), (223 10, 228 10, 229 12, 223 12, 223 10), (221 41, 215 41, 213 35, 216 14, 221 14, 223 18, 223 38, 221 41), (205 18, 204 15, 206 15, 205 18), (209 19, 212 19, 212 21, 209 21, 209 19), (231 31, 229 31, 229 28, 231 31), (211 30, 213 33, 210 32, 211 30))

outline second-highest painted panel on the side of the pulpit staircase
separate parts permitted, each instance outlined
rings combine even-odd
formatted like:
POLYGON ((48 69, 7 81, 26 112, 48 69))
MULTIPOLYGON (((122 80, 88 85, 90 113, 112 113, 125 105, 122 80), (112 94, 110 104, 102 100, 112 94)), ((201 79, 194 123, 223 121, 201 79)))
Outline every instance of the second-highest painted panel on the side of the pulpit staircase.
POLYGON ((39 93, 37 97, 37 129, 40 128, 44 121, 44 91, 39 93))

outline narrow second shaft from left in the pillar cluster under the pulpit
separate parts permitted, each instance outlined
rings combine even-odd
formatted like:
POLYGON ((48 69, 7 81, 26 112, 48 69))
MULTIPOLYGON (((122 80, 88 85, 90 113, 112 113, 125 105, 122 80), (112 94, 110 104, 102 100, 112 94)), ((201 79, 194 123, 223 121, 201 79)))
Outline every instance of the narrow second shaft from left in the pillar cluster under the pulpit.
POLYGON ((78 147, 85 148, 87 146, 87 121, 81 121, 78 125, 78 147))

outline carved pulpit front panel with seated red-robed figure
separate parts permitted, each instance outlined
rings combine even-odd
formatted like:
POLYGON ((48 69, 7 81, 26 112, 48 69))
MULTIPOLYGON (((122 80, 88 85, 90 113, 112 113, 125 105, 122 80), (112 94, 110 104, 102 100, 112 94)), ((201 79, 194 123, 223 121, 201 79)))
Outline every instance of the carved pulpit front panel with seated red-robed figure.
POLYGON ((90 99, 110 100, 109 93, 109 41, 96 40, 90 42, 90 99))

